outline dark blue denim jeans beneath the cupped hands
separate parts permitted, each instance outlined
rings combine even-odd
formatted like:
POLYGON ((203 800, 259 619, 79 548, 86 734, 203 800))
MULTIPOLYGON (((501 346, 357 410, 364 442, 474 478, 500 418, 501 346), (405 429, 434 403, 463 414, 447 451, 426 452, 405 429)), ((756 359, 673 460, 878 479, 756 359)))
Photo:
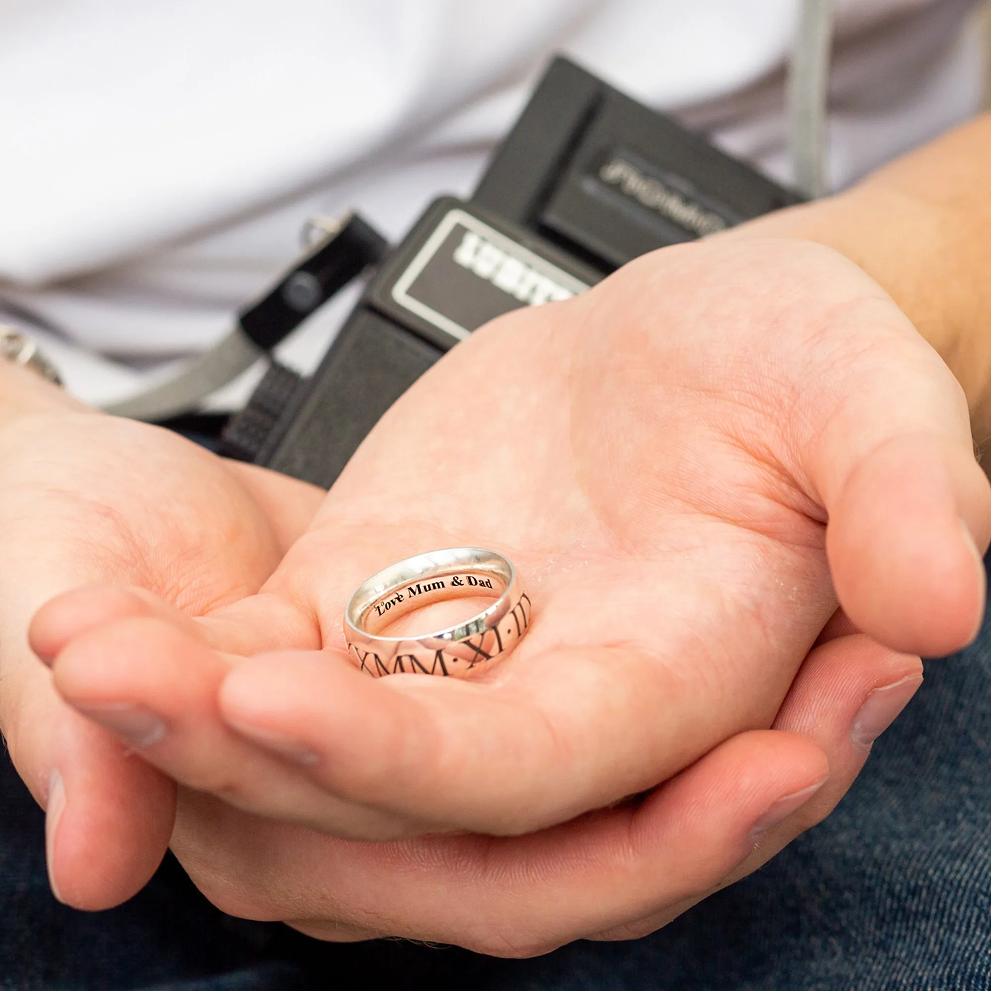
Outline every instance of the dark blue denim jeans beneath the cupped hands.
POLYGON ((991 621, 927 665, 833 815, 653 936, 499 960, 320 943, 224 916, 174 860, 126 905, 58 905, 44 822, 0 769, 0 989, 513 991, 991 989, 991 621))

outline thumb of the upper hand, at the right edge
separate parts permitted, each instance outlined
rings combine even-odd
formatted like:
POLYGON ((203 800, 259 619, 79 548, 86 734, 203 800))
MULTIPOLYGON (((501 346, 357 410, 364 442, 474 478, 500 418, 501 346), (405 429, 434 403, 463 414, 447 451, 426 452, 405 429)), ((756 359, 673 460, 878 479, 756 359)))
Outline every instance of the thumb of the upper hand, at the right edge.
POLYGON ((847 385, 851 398, 815 445, 811 474, 846 614, 894 650, 935 657, 980 626, 991 488, 959 385, 921 338, 902 357, 906 375, 891 362, 847 385))

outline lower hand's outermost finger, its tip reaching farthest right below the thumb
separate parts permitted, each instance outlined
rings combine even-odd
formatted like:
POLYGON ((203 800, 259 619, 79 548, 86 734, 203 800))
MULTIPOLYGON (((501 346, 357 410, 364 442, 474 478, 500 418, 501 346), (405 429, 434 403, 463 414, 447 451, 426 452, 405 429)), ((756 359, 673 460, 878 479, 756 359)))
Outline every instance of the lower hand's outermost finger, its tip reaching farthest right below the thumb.
POLYGON ((900 654, 863 635, 833 639, 806 659, 775 720, 828 756, 829 778, 801 809, 763 831, 752 852, 705 896, 665 906, 653 915, 591 936, 635 939, 666 926, 703 897, 752 873, 796 836, 821 823, 863 768, 873 741, 899 716, 922 684, 918 657, 900 654))

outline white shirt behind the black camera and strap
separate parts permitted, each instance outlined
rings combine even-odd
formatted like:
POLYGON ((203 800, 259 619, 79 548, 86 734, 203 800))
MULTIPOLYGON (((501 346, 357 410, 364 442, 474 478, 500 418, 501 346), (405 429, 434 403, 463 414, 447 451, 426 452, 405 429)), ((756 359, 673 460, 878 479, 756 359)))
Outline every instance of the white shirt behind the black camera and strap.
MULTIPOLYGON (((972 6, 839 0, 834 186, 976 112, 972 6)), ((558 51, 787 182, 797 7, 5 0, 0 296, 73 342, 43 335, 77 394, 131 391, 152 360, 217 340, 293 256, 308 215, 354 206, 398 238, 437 193, 470 192, 558 51)), ((283 359, 311 367, 348 304, 283 359)))

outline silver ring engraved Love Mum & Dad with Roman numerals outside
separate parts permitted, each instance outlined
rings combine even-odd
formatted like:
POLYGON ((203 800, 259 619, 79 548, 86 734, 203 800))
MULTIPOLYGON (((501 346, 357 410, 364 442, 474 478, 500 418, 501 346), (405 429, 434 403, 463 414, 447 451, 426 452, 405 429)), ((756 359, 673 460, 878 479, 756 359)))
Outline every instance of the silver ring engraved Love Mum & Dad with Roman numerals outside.
POLYGON ((529 625, 530 600, 512 562, 483 547, 452 547, 399 561, 363 582, 344 613, 348 653, 376 678, 463 678, 512 650, 529 625), (378 633, 422 606, 490 595, 492 606, 455 626, 404 636, 378 633))

